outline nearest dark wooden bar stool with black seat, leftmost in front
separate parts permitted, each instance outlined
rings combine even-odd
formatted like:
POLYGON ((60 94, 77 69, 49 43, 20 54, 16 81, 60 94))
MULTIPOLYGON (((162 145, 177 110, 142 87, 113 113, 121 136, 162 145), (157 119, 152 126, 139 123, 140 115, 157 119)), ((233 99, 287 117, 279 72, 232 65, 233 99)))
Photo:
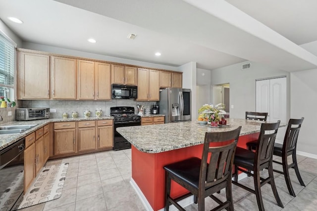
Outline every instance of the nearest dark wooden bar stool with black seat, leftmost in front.
POLYGON ((165 211, 169 210, 171 204, 178 210, 185 211, 177 202, 193 194, 195 203, 198 201, 199 211, 205 211, 207 196, 219 204, 212 211, 222 209, 234 211, 231 188, 232 162, 240 130, 241 126, 226 132, 206 132, 202 159, 189 158, 163 167, 165 169, 165 211), (210 147, 211 142, 229 140, 232 142, 224 146, 210 147), (210 159, 208 159, 209 155, 210 159), (190 193, 171 198, 171 180, 189 190, 190 193), (226 188, 227 201, 225 202, 212 195, 223 188, 226 188))

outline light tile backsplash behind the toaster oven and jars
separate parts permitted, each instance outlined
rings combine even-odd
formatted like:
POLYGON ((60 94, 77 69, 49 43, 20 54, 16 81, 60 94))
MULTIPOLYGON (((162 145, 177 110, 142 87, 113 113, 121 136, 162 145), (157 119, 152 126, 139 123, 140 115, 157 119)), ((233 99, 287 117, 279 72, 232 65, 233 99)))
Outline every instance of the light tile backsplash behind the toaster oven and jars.
POLYGON ((102 116, 110 115, 110 107, 131 106, 138 113, 137 104, 151 107, 155 101, 136 101, 133 99, 113 99, 110 101, 100 100, 20 100, 19 108, 50 108, 55 109, 56 113, 50 114, 50 118, 62 118, 66 112, 71 117, 72 111, 77 111, 79 117, 84 116, 84 111, 89 110, 91 116, 96 116, 96 108, 101 108, 102 116))

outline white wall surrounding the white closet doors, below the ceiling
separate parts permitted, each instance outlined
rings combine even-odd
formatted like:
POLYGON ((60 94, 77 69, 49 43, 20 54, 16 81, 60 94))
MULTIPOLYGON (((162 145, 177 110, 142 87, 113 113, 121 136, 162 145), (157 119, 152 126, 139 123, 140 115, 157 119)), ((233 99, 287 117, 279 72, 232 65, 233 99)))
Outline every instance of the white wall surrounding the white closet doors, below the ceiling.
POLYGON ((251 62, 251 68, 241 70, 242 62, 211 71, 211 85, 230 83, 230 118, 245 118, 246 111, 256 110, 256 80, 278 76, 287 77, 287 118, 289 118, 289 72, 251 62), (231 108, 231 105, 234 108, 231 108))

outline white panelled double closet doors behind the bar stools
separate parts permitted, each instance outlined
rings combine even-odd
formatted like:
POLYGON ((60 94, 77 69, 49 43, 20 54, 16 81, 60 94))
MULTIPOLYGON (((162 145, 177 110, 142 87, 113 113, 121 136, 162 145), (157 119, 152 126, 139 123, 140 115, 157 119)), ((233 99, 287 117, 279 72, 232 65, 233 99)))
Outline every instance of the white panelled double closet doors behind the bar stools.
MULTIPOLYGON (((286 77, 256 82, 256 111, 268 112, 268 122, 287 123, 286 107, 286 77)), ((276 142, 283 143, 285 131, 278 128, 276 142)))

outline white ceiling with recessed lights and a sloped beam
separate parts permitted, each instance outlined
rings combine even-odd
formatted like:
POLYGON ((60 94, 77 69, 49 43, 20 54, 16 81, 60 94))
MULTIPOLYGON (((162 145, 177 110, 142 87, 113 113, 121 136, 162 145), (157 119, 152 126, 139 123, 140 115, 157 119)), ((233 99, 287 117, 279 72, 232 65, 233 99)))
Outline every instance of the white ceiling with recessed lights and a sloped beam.
POLYGON ((317 40, 315 1, 0 0, 0 19, 25 42, 170 66, 251 60, 297 71, 317 67, 298 45, 317 40))

